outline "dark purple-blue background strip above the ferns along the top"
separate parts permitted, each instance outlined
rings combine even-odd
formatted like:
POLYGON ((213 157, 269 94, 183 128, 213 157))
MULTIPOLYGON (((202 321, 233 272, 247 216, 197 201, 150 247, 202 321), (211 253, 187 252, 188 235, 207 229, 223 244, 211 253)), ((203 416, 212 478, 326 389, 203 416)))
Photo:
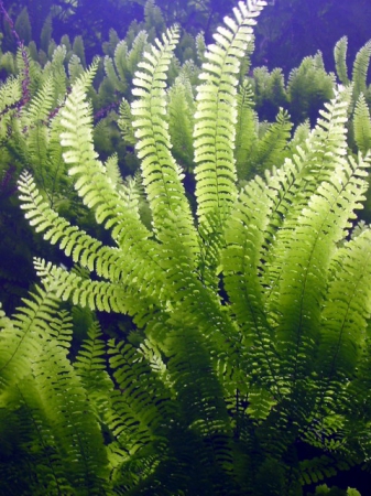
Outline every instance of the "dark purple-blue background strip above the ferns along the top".
MULTIPOLYGON (((1 0, 0 0, 1 1, 1 0)), ((121 39, 135 19, 142 21, 145 0, 3 0, 4 8, 15 19, 26 7, 31 20, 31 36, 36 43, 47 15, 52 17, 53 37, 58 43, 63 34, 70 39, 81 35, 87 61, 101 53, 101 44, 113 28, 121 39)), ((234 0, 156 0, 167 25, 179 22, 193 35, 204 31, 207 42, 231 13, 234 0)), ((299 65, 306 55, 317 50, 324 54, 326 68, 332 71, 335 43, 348 35, 349 61, 371 39, 370 0, 269 0, 255 30, 254 66, 282 67, 285 74, 299 65)), ((1 19, 3 30, 9 32, 1 19)), ((30 40, 24 40, 29 42, 30 40)), ((10 36, 2 50, 12 50, 10 36)))

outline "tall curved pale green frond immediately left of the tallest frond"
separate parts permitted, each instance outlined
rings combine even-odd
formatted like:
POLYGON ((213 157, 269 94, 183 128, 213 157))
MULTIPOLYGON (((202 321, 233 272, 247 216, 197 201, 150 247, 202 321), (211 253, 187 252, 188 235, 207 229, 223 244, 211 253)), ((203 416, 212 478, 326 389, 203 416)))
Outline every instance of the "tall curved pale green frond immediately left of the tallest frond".
POLYGON ((133 80, 133 95, 139 99, 132 103, 131 111, 135 118, 137 154, 141 159, 143 185, 156 236, 163 241, 173 236, 182 237, 189 260, 193 260, 198 248, 196 231, 182 184, 183 173, 170 151, 167 123, 162 117, 166 114, 166 69, 177 39, 177 29, 168 30, 163 41, 156 40, 156 46, 144 54, 144 62, 139 64, 140 71, 133 80), (174 220, 173 226, 164 222, 168 216, 174 220))

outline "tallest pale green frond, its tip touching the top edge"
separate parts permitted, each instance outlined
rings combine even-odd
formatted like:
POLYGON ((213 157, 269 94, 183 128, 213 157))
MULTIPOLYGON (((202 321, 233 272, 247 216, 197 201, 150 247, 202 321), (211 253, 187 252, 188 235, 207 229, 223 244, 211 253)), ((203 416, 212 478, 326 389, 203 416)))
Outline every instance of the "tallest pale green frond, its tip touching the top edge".
POLYGON ((225 25, 214 35, 199 76, 205 83, 197 88, 195 115, 195 169, 197 215, 205 223, 208 212, 219 212, 222 222, 237 197, 234 138, 236 86, 241 58, 252 36, 254 18, 263 2, 233 9, 234 20, 225 18, 225 25))

